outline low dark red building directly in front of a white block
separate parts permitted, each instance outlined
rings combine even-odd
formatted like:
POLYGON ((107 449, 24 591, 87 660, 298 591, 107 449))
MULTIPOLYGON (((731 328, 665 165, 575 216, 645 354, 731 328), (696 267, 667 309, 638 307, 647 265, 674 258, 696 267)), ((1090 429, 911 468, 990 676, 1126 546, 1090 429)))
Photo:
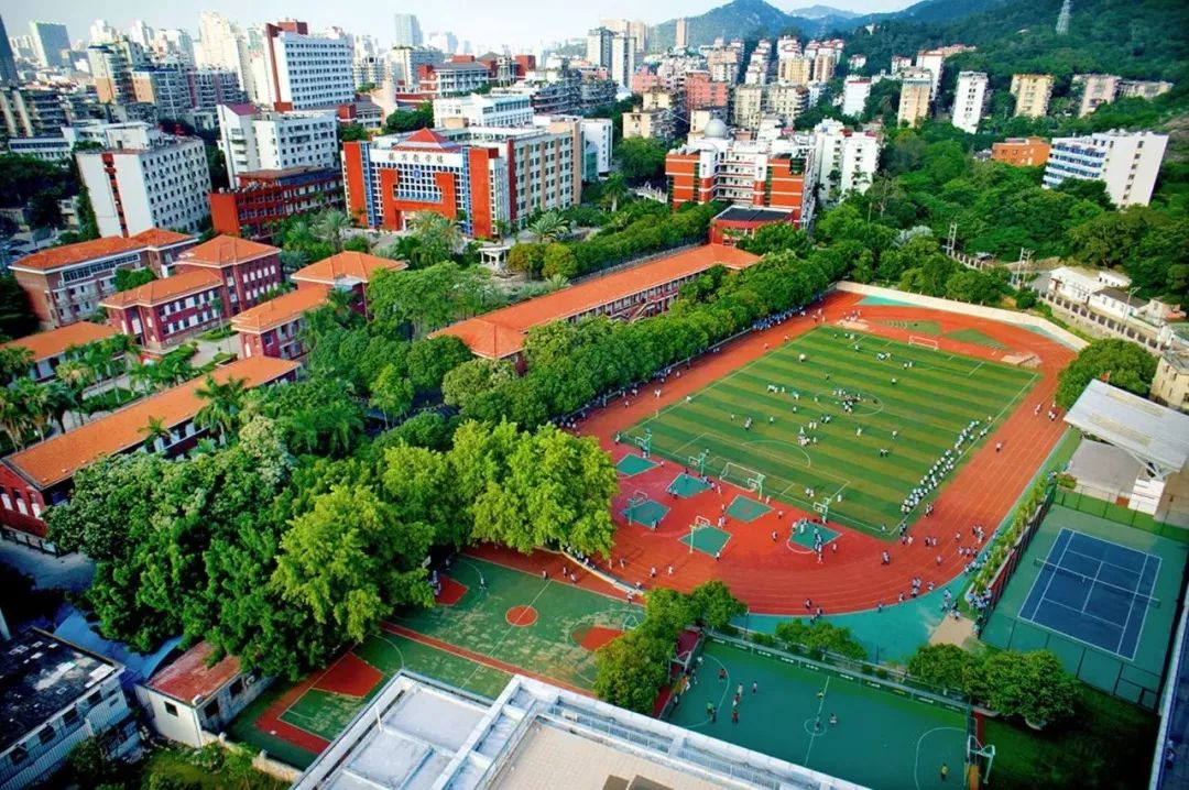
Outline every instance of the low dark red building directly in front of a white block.
POLYGON ((342 171, 290 168, 244 172, 235 189, 210 192, 209 201, 216 233, 271 241, 285 217, 342 208, 342 171))

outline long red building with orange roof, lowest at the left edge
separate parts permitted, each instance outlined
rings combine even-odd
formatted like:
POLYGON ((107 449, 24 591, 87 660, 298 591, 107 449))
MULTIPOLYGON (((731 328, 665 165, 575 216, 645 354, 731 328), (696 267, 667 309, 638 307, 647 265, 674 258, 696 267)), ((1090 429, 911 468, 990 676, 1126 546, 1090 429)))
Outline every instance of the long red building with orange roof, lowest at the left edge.
MULTIPOLYGON (((239 379, 247 387, 258 387, 292 379, 296 371, 296 362, 262 356, 232 362, 210 377, 219 383, 239 379)), ((0 525, 7 537, 52 551, 43 511, 67 501, 80 469, 103 456, 145 447, 144 428, 150 419, 161 421, 169 430, 169 436, 156 440, 152 449, 172 457, 193 448, 205 432, 194 424, 205 403, 197 396, 205 381, 205 377, 194 379, 150 396, 0 461, 0 525)))

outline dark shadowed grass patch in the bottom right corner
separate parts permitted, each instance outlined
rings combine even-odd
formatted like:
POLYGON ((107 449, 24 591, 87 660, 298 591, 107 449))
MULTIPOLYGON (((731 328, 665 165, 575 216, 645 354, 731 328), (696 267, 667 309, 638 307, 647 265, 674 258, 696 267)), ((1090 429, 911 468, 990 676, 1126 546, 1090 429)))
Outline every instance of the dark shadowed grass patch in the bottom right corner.
POLYGON ((986 741, 998 750, 990 786, 1146 788, 1156 727, 1156 715, 1088 687, 1062 727, 1036 732, 1023 722, 987 719, 986 741))

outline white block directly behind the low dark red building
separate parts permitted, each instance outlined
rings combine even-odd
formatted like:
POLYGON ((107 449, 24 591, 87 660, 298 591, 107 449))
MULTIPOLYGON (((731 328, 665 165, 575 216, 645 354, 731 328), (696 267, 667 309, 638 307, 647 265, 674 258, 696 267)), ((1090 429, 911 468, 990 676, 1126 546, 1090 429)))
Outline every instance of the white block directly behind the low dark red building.
POLYGON ((290 168, 338 168, 339 119, 332 112, 259 110, 219 106, 219 150, 234 184, 240 173, 290 168))

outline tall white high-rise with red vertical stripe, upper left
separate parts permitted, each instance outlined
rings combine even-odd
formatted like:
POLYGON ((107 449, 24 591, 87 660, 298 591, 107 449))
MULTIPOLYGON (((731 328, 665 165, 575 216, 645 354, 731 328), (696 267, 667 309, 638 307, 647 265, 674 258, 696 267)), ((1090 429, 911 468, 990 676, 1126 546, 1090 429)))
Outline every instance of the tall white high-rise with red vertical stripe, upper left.
POLYGON ((354 100, 351 42, 309 34, 303 21, 264 26, 266 95, 277 109, 313 109, 354 100))

